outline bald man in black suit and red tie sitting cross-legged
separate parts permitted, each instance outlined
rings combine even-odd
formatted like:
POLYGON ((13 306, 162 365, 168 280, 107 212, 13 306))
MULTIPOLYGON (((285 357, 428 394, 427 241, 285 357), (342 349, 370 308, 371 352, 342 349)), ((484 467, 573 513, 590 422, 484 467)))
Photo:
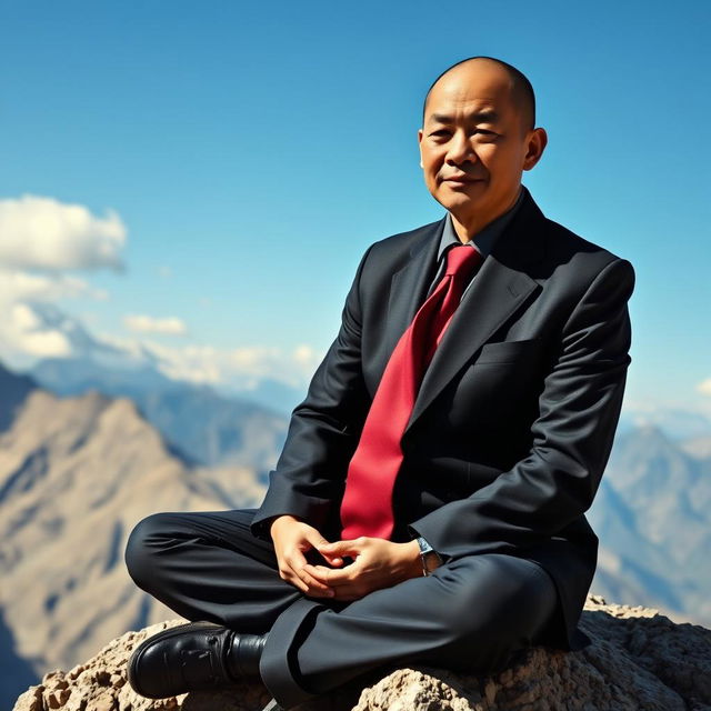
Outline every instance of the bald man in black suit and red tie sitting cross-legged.
POLYGON ((484 673, 580 649, 590 507, 629 364, 629 262, 521 186, 547 144, 491 58, 432 84, 444 219, 372 244, 261 508, 150 517, 127 563, 190 620, 129 663, 149 697, 259 674, 291 708, 384 664, 484 673))

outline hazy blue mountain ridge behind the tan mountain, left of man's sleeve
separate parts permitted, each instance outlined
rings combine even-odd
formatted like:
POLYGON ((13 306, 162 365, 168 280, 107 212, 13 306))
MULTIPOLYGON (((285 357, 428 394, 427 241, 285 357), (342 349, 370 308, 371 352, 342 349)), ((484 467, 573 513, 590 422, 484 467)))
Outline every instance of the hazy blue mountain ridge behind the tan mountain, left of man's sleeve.
POLYGON ((206 385, 171 380, 150 362, 118 367, 90 358, 47 359, 31 373, 60 395, 98 390, 131 398, 173 448, 208 467, 237 464, 266 472, 286 438, 284 415, 206 385))

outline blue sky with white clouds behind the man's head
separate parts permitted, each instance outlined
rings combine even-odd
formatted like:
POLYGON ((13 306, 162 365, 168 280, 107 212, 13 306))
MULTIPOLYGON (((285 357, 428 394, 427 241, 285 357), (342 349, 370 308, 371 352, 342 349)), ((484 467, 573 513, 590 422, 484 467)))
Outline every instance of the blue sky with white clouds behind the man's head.
POLYGON ((186 377, 303 383, 365 247, 442 214, 427 87, 491 54, 537 91, 539 206, 635 267, 628 407, 711 411, 709 8, 2 0, 0 358, 62 350, 43 301, 186 377))

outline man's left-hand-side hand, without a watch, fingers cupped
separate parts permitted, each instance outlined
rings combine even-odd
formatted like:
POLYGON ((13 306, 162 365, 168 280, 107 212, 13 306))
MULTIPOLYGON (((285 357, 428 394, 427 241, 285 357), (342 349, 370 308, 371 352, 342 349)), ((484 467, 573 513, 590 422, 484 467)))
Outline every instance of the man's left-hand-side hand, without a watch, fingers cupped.
MULTIPOLYGON (((307 595, 313 598, 333 598, 334 592, 328 584, 310 574, 304 553, 311 549, 328 544, 317 529, 292 515, 276 518, 269 528, 274 543, 279 577, 290 582, 307 595)), ((342 565, 338 554, 321 553, 331 565, 342 565)))

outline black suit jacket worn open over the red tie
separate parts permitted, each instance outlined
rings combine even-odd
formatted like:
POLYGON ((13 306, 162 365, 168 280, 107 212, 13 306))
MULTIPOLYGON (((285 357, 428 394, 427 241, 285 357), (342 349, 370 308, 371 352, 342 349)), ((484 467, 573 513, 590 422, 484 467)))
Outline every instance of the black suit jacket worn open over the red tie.
MULTIPOLYGON (((336 341, 292 414, 252 531, 290 513, 329 539, 385 363, 425 298, 444 220, 372 244, 336 341)), ((631 264, 548 220, 528 191, 464 294, 402 438, 392 540, 445 560, 508 553, 555 581, 544 642, 579 649, 597 564, 584 511, 605 467, 630 362, 631 264)), ((495 594, 495 591, 492 591, 495 594)))

